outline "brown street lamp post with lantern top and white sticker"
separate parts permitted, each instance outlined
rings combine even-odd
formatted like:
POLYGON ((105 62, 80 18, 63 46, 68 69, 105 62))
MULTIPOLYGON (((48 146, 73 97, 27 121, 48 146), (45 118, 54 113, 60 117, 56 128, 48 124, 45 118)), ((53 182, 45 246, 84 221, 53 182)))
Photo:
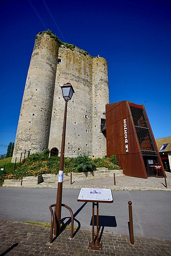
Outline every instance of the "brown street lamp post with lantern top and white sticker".
POLYGON ((54 235, 59 236, 60 234, 60 218, 61 218, 61 202, 62 202, 62 182, 63 182, 63 161, 65 154, 65 139, 66 139, 66 121, 67 121, 67 103, 71 100, 74 89, 71 83, 66 83, 61 86, 63 98, 66 101, 65 113, 63 118, 63 132, 62 132, 62 142, 60 151, 60 163, 59 163, 59 176, 58 176, 58 186, 57 186, 57 197, 55 206, 55 220, 54 220, 54 235))

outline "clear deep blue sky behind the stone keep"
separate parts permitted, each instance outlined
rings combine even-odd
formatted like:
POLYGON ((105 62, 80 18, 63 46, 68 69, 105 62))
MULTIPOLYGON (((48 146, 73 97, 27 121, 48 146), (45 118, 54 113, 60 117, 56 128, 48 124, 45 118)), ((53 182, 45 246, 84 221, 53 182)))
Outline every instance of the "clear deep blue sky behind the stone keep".
POLYGON ((0 155, 15 141, 35 35, 108 61, 110 103, 144 104, 155 138, 171 136, 170 0, 2 0, 0 155))

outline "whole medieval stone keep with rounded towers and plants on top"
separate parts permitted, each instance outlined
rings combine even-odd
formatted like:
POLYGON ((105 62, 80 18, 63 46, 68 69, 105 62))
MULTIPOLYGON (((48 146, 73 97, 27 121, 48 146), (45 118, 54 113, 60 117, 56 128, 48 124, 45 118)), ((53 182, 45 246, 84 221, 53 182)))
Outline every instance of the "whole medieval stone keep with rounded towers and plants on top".
POLYGON ((109 103, 108 67, 102 57, 61 42, 52 33, 36 36, 20 110, 12 161, 49 148, 61 147, 65 100, 60 86, 70 82, 74 95, 68 102, 65 156, 106 155, 101 131, 109 103))

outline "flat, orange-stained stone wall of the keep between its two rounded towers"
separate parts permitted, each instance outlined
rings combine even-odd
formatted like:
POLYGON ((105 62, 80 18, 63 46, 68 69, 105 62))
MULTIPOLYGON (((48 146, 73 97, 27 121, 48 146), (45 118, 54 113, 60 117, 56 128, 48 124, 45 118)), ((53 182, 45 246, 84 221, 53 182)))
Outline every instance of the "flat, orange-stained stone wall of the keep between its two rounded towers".
POLYGON ((68 102, 65 156, 92 152, 92 57, 79 48, 59 49, 61 64, 57 66, 49 148, 60 152, 65 100, 60 86, 70 82, 75 93, 68 102))

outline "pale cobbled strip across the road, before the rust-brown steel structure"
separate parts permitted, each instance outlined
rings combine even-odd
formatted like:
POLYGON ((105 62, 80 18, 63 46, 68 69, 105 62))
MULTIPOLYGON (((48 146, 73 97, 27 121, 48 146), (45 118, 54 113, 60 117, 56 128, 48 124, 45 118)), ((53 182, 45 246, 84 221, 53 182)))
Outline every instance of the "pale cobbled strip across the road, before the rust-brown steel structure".
MULTIPOLYGON (((167 173, 167 188, 165 187, 164 178, 148 177, 148 179, 116 176, 116 185, 114 186, 113 177, 92 178, 74 181, 72 185, 70 181, 64 181, 63 187, 81 188, 81 187, 99 187, 111 188, 113 190, 171 190, 171 173, 167 173)), ((40 183, 36 187, 57 187, 57 183, 40 183)))

